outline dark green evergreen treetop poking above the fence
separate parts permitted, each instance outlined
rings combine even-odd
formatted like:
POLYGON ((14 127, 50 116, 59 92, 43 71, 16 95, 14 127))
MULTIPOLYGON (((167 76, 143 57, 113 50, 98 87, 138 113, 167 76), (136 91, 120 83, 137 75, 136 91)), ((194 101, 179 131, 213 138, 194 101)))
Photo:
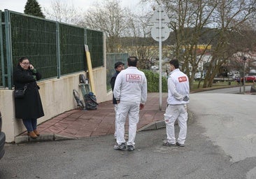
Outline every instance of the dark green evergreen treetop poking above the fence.
POLYGON ((45 15, 41 11, 41 6, 36 0, 27 0, 24 13, 45 18, 45 15))

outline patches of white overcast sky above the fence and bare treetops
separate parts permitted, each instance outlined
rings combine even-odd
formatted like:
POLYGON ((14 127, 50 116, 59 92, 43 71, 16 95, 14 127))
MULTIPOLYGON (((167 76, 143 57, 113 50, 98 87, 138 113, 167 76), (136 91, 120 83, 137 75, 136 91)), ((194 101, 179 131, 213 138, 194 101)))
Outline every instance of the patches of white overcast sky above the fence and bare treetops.
MULTIPOLYGON (((41 8, 49 8, 52 0, 37 0, 41 8)), ((61 0, 68 3, 69 6, 72 4, 75 8, 81 10, 87 10, 95 2, 103 2, 104 0, 61 0)), ((121 0, 121 5, 128 8, 134 9, 138 5, 140 0, 121 0)), ((24 6, 26 5, 27 0, 0 0, 0 10, 8 9, 13 10, 19 13, 24 13, 24 6)), ((42 9, 43 10, 43 9, 42 9)))

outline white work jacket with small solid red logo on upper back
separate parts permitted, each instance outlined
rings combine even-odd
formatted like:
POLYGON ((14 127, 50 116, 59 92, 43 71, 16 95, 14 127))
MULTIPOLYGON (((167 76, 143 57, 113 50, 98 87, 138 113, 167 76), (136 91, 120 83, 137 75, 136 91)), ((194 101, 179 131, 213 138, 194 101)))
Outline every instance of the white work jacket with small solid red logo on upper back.
POLYGON ((183 104, 189 103, 189 101, 183 101, 185 96, 190 94, 190 83, 187 75, 175 69, 171 71, 168 78, 168 98, 167 103, 169 104, 183 104))

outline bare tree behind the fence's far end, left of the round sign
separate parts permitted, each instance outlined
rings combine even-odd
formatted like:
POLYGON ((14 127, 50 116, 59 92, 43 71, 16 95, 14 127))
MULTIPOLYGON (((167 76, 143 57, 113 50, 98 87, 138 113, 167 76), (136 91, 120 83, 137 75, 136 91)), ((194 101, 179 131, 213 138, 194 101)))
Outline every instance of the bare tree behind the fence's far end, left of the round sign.
POLYGON ((106 33, 106 52, 120 52, 120 37, 128 27, 129 10, 118 0, 106 0, 88 10, 80 24, 106 33))

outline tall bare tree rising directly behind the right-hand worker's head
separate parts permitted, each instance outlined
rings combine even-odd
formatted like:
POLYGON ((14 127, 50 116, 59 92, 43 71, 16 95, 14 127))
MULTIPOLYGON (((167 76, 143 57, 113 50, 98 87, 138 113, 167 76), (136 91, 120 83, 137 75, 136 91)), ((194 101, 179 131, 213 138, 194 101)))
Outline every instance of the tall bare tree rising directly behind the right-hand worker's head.
POLYGON ((199 45, 202 43, 201 39, 213 31, 208 26, 212 22, 211 15, 216 5, 210 7, 211 0, 162 0, 157 3, 164 4, 171 20, 169 27, 175 36, 172 57, 180 60, 181 70, 187 73, 190 89, 193 89, 194 74, 212 39, 204 41, 206 48, 200 54, 199 45))

